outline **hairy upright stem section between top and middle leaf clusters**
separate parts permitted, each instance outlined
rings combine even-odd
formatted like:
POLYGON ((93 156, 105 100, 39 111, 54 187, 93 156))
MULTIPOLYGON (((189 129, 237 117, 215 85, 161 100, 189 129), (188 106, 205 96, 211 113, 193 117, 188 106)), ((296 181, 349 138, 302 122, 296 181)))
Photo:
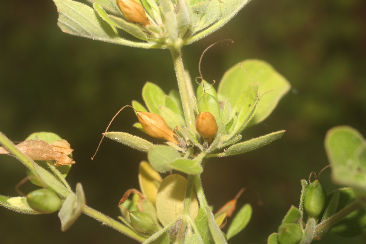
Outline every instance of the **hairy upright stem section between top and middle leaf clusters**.
POLYGON ((180 52, 180 46, 172 46, 169 48, 174 64, 175 74, 177 76, 178 88, 180 98, 182 99, 184 117, 186 119, 187 127, 195 133, 195 116, 191 97, 188 93, 188 86, 186 80, 186 72, 183 66, 182 53, 180 52))

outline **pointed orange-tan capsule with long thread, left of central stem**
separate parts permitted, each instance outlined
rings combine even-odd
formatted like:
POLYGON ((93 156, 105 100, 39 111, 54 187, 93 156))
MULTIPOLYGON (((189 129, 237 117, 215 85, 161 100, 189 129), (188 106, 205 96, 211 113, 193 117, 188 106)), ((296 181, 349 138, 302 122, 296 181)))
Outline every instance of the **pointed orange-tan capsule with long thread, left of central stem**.
POLYGON ((142 125, 142 128, 145 129, 146 133, 150 136, 179 144, 175 139, 176 135, 169 129, 167 123, 165 123, 165 120, 160 115, 137 111, 137 118, 142 125))

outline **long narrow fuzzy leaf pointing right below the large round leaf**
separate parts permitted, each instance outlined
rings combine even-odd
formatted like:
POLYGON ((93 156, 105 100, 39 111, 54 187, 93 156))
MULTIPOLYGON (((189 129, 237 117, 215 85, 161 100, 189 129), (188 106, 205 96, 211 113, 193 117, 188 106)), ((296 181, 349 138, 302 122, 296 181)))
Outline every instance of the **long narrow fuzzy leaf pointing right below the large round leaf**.
POLYGON ((285 133, 284 130, 272 132, 270 134, 259 136, 257 138, 253 138, 250 140, 246 140, 245 142, 240 142, 232 145, 228 149, 225 150, 224 156, 231 156, 246 153, 258 148, 261 148, 274 140, 279 139, 285 133))

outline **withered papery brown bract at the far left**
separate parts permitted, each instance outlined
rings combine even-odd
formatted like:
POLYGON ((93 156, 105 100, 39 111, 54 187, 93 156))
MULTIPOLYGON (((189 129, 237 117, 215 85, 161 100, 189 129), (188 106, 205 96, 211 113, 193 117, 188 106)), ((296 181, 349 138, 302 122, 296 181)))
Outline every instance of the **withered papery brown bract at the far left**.
MULTIPOLYGON (((56 160, 55 166, 75 164, 75 161, 67 156, 74 151, 67 140, 56 140, 52 144, 44 140, 26 140, 17 144, 16 147, 32 160, 56 160)), ((0 154, 10 154, 10 152, 0 147, 0 154)))

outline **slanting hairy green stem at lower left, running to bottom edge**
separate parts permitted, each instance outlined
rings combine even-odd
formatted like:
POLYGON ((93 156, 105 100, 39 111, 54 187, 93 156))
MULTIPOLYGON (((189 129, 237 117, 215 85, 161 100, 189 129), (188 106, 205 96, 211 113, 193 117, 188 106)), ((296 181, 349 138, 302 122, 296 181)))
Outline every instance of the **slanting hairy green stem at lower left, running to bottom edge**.
POLYGON ((131 230, 127 226, 123 225, 121 222, 116 221, 115 219, 112 219, 111 217, 108 217, 108 216, 98 212, 97 210, 92 209, 89 206, 85 206, 83 208, 83 213, 90 216, 91 218, 96 219, 97 221, 101 222, 102 224, 108 225, 109 227, 112 227, 113 229, 115 229, 141 243, 146 240, 145 237, 140 236, 134 230, 131 230))

